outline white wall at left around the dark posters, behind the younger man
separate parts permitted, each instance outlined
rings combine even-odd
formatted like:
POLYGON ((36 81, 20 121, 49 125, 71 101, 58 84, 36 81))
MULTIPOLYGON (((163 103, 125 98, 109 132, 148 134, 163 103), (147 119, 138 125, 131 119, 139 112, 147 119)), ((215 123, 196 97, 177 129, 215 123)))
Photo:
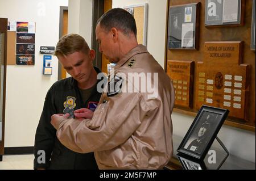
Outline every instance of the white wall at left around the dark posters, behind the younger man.
POLYGON ((53 74, 43 75, 42 45, 56 46, 59 40, 60 6, 68 0, 0 1, 0 17, 10 21, 36 22, 35 65, 7 66, 5 147, 34 146, 35 131, 47 90, 57 81, 57 58, 53 74))

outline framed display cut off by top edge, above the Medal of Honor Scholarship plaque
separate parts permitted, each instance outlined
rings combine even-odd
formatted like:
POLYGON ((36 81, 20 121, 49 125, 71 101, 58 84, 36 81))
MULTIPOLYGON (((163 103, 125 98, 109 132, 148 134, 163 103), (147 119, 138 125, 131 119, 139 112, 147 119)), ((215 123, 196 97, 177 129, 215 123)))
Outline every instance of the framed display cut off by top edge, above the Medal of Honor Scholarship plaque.
POLYGON ((205 26, 243 24, 244 0, 206 0, 205 26))

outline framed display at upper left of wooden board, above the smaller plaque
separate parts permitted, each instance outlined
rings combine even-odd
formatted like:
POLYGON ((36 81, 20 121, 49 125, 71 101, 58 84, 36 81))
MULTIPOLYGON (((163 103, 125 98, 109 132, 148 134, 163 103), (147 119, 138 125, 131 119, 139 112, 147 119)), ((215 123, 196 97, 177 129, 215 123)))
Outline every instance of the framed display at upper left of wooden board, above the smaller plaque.
POLYGON ((168 19, 169 49, 199 48, 200 3, 170 6, 168 19))

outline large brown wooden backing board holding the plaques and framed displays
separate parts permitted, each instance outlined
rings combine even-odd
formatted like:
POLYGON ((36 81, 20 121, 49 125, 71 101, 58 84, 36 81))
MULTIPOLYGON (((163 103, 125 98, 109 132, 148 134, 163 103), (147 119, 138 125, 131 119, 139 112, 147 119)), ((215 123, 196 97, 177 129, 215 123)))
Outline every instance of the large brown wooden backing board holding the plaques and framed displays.
MULTIPOLYGON (((195 116, 198 111, 198 108, 200 107, 199 105, 197 105, 197 102, 195 100, 198 99, 197 96, 201 94, 199 91, 196 91, 196 89, 198 89, 198 87, 200 86, 200 82, 198 81, 200 80, 200 77, 198 77, 200 75, 199 69, 201 69, 201 65, 207 64, 207 61, 205 61, 205 57, 207 57, 207 51, 205 50, 205 46, 208 46, 208 44, 205 44, 205 43, 225 42, 226 44, 229 41, 241 42, 242 44, 241 61, 239 62, 238 67, 239 65, 241 66, 241 68, 245 66, 247 67, 244 70, 245 72, 247 72, 244 75, 244 77, 246 77, 245 91, 247 91, 246 93, 246 96, 248 96, 247 101, 250 103, 247 105, 247 109, 243 119, 240 119, 239 116, 237 116, 237 118, 236 116, 235 117, 229 116, 228 119, 225 120, 224 124, 255 132, 255 50, 251 50, 250 48, 251 19, 252 19, 251 17, 252 17, 253 1, 245 0, 245 3, 242 3, 241 16, 244 17, 244 23, 242 26, 241 25, 225 26, 225 27, 224 26, 219 26, 219 27, 205 26, 205 1, 204 0, 184 0, 182 2, 179 0, 169 0, 168 6, 170 7, 170 6, 177 6, 177 5, 185 5, 189 3, 198 3, 198 2, 201 3, 200 27, 199 27, 200 28, 199 49, 198 50, 176 50, 176 49, 173 50, 173 49, 168 49, 168 45, 166 43, 166 64, 165 64, 166 71, 168 71, 168 61, 170 60, 195 61, 195 74, 194 74, 195 80, 193 85, 194 91, 193 91, 193 104, 192 104, 193 106, 192 108, 183 108, 183 107, 176 106, 174 108, 174 111, 183 113, 185 115, 195 116)), ((168 30, 168 23, 167 23, 166 30, 168 30)), ((223 69, 225 69, 225 67, 229 69, 230 67, 228 63, 220 64, 220 65, 223 69)), ((213 65, 209 65, 209 66, 213 66, 213 65)), ((203 70, 205 71, 205 69, 203 70)), ((236 73, 239 73, 239 71, 236 71, 236 73)), ((235 78, 235 75, 237 74, 233 75, 233 79, 235 78)), ((242 89, 243 89, 243 85, 242 85, 242 89)))

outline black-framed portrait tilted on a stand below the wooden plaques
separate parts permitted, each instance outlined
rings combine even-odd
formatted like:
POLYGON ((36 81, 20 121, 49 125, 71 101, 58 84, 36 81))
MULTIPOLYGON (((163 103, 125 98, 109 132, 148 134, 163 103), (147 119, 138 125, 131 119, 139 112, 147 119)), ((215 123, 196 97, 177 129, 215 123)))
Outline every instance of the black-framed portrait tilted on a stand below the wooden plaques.
POLYGON ((196 159, 204 159, 229 110, 203 105, 177 151, 196 159))

